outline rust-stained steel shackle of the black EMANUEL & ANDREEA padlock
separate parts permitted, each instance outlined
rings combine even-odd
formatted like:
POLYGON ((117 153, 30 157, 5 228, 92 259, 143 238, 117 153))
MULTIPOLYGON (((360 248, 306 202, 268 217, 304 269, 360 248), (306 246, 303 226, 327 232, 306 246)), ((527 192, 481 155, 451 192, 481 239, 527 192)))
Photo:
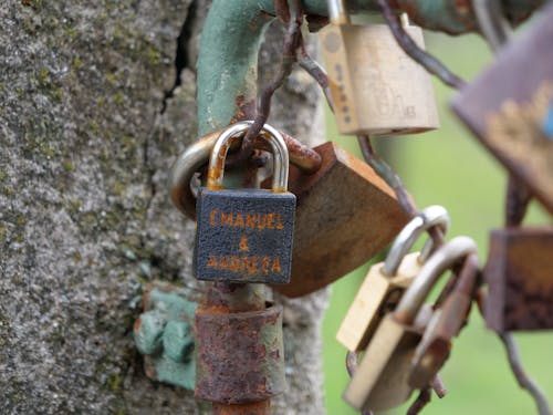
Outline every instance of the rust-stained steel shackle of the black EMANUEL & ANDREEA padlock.
MULTIPOLYGON (((208 189, 222 189, 225 178, 225 160, 227 158, 227 153, 229 152, 232 142, 239 141, 241 143, 243 133, 246 133, 252 124, 253 121, 241 121, 225 128, 223 132, 219 135, 209 158, 208 179, 206 186, 208 189)), ((288 191, 290 160, 288 156, 286 143, 284 143, 284 138, 279 133, 279 131, 271 127, 269 124, 263 125, 261 132, 262 134, 260 134, 259 136, 262 137, 267 143, 269 143, 273 154, 272 191, 288 191)))

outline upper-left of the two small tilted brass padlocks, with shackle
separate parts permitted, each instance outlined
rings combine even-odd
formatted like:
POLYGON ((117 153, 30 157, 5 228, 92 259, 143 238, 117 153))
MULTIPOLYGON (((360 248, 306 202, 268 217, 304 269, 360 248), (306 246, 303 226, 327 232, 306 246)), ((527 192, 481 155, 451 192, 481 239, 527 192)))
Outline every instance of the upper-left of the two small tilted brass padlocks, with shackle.
POLYGON ((357 352, 365 349, 386 311, 395 309, 404 291, 419 273, 431 249, 431 239, 422 253, 406 253, 422 231, 436 225, 444 234, 447 232, 447 210, 441 206, 424 209, 399 232, 386 261, 371 267, 336 334, 336 340, 347 350, 357 352))

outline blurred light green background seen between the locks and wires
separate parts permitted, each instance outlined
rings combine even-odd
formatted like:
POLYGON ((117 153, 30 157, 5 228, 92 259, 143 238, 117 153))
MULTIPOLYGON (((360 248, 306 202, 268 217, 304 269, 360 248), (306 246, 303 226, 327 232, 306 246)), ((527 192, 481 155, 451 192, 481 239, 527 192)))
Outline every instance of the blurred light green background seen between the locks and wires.
MULTIPOLYGON (((425 40, 427 50, 465 80, 473 79, 492 59, 486 43, 476 35, 450 38, 426 33, 425 40)), ((449 102, 455 91, 437 80, 434 80, 434 87, 440 113, 439 131, 379 138, 373 143, 378 146, 378 141, 386 142, 386 154, 390 155, 388 163, 399 173, 418 208, 429 205, 446 207, 451 216, 448 238, 459 235, 472 237, 483 262, 488 253, 488 232, 500 227, 503 220, 505 170, 450 112, 449 102)), ((327 114, 326 120, 328 139, 359 155, 355 137, 340 137, 332 115, 327 114)), ((525 224, 550 222, 551 217, 532 203, 525 224)), ((335 334, 367 268, 361 267, 332 287, 331 303, 323 324, 328 415, 356 414, 341 398, 348 380, 344 366, 346 350, 335 340, 335 334)), ((553 400, 553 334, 523 333, 515 338, 526 371, 553 400)), ((441 401, 434 395, 425 414, 536 412, 533 401, 519 388, 511 374, 501 342, 486 329, 476 309, 470 324, 456 340, 441 376, 449 393, 441 401)), ((405 414, 407 408, 408 404, 389 414, 405 414)))

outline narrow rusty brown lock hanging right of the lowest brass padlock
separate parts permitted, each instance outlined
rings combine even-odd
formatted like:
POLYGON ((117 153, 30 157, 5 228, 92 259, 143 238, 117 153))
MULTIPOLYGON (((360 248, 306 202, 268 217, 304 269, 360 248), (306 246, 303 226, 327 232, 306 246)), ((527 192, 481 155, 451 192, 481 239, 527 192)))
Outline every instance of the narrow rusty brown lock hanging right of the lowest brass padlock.
POLYGON ((452 291, 430 317, 411 360, 408 382, 413 387, 428 386, 448 360, 451 341, 459 334, 470 312, 478 282, 478 256, 467 256, 452 291))

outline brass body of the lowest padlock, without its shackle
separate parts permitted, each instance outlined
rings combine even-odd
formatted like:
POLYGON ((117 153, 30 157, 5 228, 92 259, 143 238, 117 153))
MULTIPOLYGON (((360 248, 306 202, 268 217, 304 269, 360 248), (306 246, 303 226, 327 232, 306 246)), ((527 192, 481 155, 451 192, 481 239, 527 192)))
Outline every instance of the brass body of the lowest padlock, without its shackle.
POLYGON ((413 393, 407 383, 410 360, 420 333, 387 314, 347 385, 343 398, 358 411, 386 411, 401 405, 413 393))

